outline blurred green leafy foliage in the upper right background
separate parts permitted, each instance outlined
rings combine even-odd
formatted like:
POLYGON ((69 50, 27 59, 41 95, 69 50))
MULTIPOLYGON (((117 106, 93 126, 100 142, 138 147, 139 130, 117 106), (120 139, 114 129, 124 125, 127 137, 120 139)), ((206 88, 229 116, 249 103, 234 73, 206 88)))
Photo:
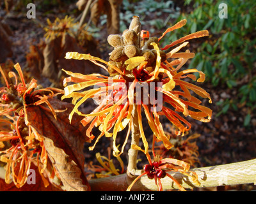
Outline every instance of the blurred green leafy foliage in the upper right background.
MULTIPOLYGON (((185 4, 189 3, 191 0, 186 0, 185 4)), ((248 112, 244 126, 248 126, 256 108, 256 1, 195 0, 193 3, 193 11, 182 13, 176 20, 186 18, 187 24, 179 32, 173 32, 167 41, 204 29, 209 31, 209 38, 195 50, 189 68, 204 71, 214 87, 236 90, 230 99, 217 103, 221 107, 218 115, 227 113, 229 108, 239 110, 244 106, 248 112), (221 3, 227 4, 227 18, 219 17, 221 3)))

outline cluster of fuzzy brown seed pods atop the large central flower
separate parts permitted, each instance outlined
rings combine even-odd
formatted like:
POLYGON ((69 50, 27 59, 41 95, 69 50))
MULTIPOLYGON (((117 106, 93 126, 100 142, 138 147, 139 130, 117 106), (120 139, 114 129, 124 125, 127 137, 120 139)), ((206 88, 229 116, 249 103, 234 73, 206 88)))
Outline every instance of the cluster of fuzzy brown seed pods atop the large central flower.
MULTIPOLYGON (((110 63, 113 66, 116 66, 121 71, 125 69, 125 61, 129 58, 136 56, 145 57, 145 61, 147 61, 147 66, 145 71, 147 73, 151 73, 154 71, 156 66, 156 57, 157 52, 150 43, 158 43, 158 38, 142 38, 141 37, 141 23, 140 18, 134 16, 132 18, 132 22, 129 26, 129 29, 125 30, 122 34, 111 34, 108 36, 108 43, 114 50, 109 54, 110 63)), ((166 54, 160 50, 161 62, 166 60, 166 54)), ((109 66, 108 71, 111 77, 118 75, 115 69, 109 66)))

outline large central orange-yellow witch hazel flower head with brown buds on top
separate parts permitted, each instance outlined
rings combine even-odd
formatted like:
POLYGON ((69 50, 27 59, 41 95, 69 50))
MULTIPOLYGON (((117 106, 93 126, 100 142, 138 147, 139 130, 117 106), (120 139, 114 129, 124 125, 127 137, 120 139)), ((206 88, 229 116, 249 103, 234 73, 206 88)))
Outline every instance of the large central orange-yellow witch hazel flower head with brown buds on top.
POLYGON ((148 142, 143 131, 142 111, 157 141, 162 141, 166 149, 171 149, 173 145, 168 135, 164 133, 160 117, 165 116, 177 128, 177 135, 184 135, 191 129, 191 124, 184 117, 189 116, 202 122, 211 120, 212 110, 201 105, 201 98, 207 98, 211 103, 209 93, 187 80, 204 82, 205 75, 197 69, 183 68, 183 65, 195 57, 195 54, 189 50, 180 52, 188 45, 188 40, 208 36, 208 31, 189 34, 163 48, 159 45, 159 41, 166 33, 179 29, 185 24, 186 20, 181 20, 157 38, 150 36, 148 31, 141 31, 140 18, 134 16, 129 29, 122 35, 112 34, 108 37, 109 45, 114 48, 109 54, 109 61, 90 54, 77 52, 66 54, 66 59, 89 60, 109 73, 107 77, 99 73, 82 75, 64 70, 70 77, 64 80, 63 98, 73 98, 72 103, 75 105, 70 113, 70 120, 74 113, 83 115, 84 119, 81 122, 84 126, 88 126, 86 136, 92 140, 95 138, 92 129, 100 130, 100 135, 90 147, 91 150, 105 135, 113 138, 115 156, 124 152, 131 131, 134 105, 138 113, 138 124, 145 153, 148 152, 148 142), (196 73, 199 74, 198 78, 196 73), (69 84, 70 82, 72 84, 69 84), (88 87, 93 88, 88 89, 88 87), (200 99, 193 96, 195 94, 200 99), (84 114, 79 111, 79 106, 89 98, 93 98, 98 106, 93 112, 84 114), (118 148, 116 137, 126 127, 128 130, 124 143, 121 148, 118 148))

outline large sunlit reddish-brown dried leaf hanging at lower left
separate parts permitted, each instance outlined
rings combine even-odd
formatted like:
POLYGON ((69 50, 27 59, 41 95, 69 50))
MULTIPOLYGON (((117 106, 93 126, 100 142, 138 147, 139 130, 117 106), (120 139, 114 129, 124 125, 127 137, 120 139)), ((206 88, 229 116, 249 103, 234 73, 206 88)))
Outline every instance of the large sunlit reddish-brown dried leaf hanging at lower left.
MULTIPOLYGON (((74 108, 70 103, 49 99, 57 112, 57 120, 50 111, 40 106, 27 108, 28 122, 36 131, 44 136, 44 145, 54 168, 67 191, 88 191, 90 189, 84 173, 83 145, 88 138, 84 136, 84 128, 77 115, 69 124, 68 115, 74 108)), ((45 106, 45 108, 47 108, 45 106)))

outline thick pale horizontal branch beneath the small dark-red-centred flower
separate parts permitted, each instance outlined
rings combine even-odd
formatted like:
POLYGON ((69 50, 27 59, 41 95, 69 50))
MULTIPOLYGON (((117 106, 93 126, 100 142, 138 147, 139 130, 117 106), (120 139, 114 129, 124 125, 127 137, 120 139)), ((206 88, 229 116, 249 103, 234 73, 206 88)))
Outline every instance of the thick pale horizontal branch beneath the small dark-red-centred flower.
MULTIPOLYGON (((179 172, 168 172, 174 179, 178 180, 185 189, 194 187, 213 187, 237 184, 250 184, 256 182, 256 159, 242 161, 238 163, 209 166, 191 169, 198 175, 200 186, 193 184, 193 181, 186 175, 179 172)), ((141 170, 135 171, 136 175, 141 174, 141 170)), ((92 191, 126 191, 129 186, 126 182, 126 174, 107 177, 103 179, 90 180, 92 191), (109 185, 111 184, 111 185, 109 185)), ((163 190, 177 189, 172 179, 165 177, 161 179, 163 190)), ((132 187, 132 191, 157 191, 154 179, 147 176, 141 177, 132 187)))

